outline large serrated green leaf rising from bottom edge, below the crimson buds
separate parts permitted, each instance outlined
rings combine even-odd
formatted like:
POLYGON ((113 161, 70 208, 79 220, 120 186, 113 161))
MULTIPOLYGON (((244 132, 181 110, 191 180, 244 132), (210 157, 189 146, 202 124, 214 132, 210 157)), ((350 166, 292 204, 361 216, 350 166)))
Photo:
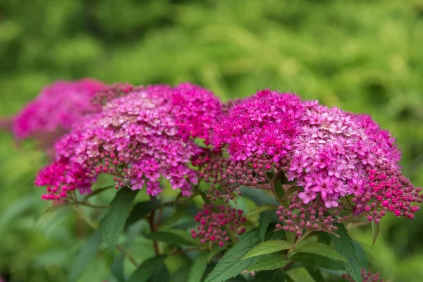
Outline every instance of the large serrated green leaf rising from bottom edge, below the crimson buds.
POLYGON ((204 282, 223 282, 240 274, 263 257, 241 259, 252 247, 260 242, 259 232, 252 229, 240 236, 240 240, 219 260, 204 282))

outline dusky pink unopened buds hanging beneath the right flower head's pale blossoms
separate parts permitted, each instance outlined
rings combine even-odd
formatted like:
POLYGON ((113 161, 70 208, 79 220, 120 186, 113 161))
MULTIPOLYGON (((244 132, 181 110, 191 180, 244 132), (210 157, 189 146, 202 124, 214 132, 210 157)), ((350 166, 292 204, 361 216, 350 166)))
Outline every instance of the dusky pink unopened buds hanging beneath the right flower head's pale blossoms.
POLYGON ((337 229, 336 226, 333 226, 333 223, 347 219, 339 216, 342 209, 342 203, 331 211, 317 201, 305 204, 298 197, 298 193, 294 192, 290 204, 287 207, 279 206, 278 211, 276 211, 279 221, 283 222, 283 226, 278 223, 276 228, 293 232, 298 237, 305 230, 333 232, 337 229))

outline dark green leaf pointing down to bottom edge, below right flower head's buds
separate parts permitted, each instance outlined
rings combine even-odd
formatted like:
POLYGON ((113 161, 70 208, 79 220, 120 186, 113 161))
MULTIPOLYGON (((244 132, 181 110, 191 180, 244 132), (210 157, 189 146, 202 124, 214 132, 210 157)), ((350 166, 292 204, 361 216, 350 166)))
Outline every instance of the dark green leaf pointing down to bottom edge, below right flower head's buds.
POLYGON ((343 224, 338 223, 336 226, 338 227, 338 231, 336 233, 339 237, 333 234, 330 235, 333 246, 336 251, 347 259, 347 262, 345 262, 345 269, 348 274, 350 274, 356 282, 362 282, 363 278, 361 275, 361 269, 364 267, 357 256, 353 239, 350 238, 350 235, 348 235, 348 231, 343 224))

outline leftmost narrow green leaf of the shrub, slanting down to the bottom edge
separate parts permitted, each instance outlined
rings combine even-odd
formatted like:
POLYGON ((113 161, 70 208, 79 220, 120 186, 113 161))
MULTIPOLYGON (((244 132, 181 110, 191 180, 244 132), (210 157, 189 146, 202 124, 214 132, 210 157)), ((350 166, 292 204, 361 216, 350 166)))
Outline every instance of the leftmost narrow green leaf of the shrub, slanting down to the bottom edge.
POLYGON ((68 282, 76 282, 80 278, 82 272, 87 267, 88 262, 94 258, 102 244, 102 235, 99 231, 95 231, 90 238, 87 239, 84 245, 80 248, 78 255, 76 255, 71 272, 68 276, 68 282))

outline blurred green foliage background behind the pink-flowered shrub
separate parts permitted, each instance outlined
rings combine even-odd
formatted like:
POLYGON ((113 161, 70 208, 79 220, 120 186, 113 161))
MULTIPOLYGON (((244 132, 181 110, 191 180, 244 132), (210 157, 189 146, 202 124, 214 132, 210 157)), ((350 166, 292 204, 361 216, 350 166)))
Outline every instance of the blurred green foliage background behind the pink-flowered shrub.
MULTIPOLYGON (((0 1, 0 116, 54 80, 82 77, 191 81, 223 99, 271 87, 366 112, 397 137, 405 175, 423 185, 422 0, 0 1)), ((0 142, 0 273, 66 281, 90 230, 66 209, 40 219, 47 203, 32 181, 47 159, 7 133, 0 142)), ((368 228, 352 233, 372 269, 423 281, 423 212, 386 216, 374 246, 368 228)), ((142 240, 131 251, 152 252, 142 240)), ((96 259, 81 281, 109 279, 106 267, 96 259)))

